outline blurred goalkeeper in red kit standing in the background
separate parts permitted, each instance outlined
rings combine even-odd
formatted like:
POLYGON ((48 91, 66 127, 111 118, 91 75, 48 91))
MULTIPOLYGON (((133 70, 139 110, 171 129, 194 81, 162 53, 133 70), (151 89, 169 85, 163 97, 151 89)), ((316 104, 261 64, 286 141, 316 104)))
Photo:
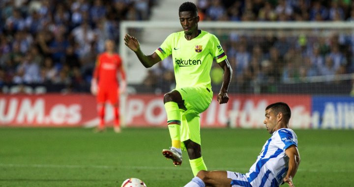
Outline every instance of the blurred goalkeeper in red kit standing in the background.
POLYGON ((105 104, 110 103, 114 112, 114 131, 120 133, 119 119, 119 93, 125 92, 126 81, 120 56, 114 52, 115 42, 106 40, 106 51, 97 57, 96 67, 91 80, 91 93, 97 95, 97 111, 99 116, 99 125, 95 132, 105 131, 105 104), (119 80, 118 81, 118 73, 119 80))

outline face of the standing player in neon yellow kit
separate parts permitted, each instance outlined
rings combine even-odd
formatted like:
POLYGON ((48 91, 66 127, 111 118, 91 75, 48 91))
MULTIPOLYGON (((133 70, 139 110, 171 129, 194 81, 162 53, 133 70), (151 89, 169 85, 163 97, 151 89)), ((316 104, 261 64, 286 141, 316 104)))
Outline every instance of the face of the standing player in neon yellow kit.
POLYGON ((179 12, 179 22, 185 34, 192 34, 198 30, 199 16, 193 11, 179 12))

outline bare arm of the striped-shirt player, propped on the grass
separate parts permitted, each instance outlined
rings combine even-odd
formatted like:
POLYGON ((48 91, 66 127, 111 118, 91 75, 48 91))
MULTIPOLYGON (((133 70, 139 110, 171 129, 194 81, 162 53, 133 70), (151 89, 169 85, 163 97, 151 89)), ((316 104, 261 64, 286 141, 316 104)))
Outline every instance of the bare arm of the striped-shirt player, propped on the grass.
POLYGON ((285 154, 289 157, 289 169, 284 177, 284 183, 288 183, 289 187, 294 187, 293 178, 300 164, 300 155, 295 145, 285 150, 285 154))

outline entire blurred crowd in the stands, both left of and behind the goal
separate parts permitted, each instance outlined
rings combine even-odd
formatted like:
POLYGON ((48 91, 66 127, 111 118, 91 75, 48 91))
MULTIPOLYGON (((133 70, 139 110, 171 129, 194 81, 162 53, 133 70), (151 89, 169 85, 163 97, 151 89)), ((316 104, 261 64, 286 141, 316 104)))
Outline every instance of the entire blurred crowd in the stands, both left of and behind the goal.
MULTIPOLYGON (((156 2, 1 0, 0 92, 5 84, 63 85, 67 92, 88 92, 96 55, 104 51, 104 41, 114 39, 118 43, 119 22, 149 19, 156 2)), ((354 21, 352 0, 197 0, 197 6, 202 21, 354 21)), ((353 73, 353 32, 214 34, 234 69, 231 89, 237 92, 248 85, 353 73)), ((222 73, 214 63, 211 78, 216 88, 222 73)), ((145 90, 148 92, 173 88, 172 59, 148 70, 143 84, 151 88, 145 90)))

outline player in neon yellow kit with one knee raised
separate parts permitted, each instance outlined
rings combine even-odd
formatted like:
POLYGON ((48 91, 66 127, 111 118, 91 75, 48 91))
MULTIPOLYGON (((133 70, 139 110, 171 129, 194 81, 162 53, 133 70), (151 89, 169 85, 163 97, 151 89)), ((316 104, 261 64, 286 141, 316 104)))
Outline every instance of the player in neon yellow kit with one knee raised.
POLYGON ((164 96, 172 147, 162 150, 162 153, 175 165, 180 165, 181 149, 186 149, 196 176, 200 170, 207 170, 201 152, 200 113, 209 107, 213 97, 209 75, 213 59, 224 70, 223 84, 217 96, 220 104, 229 100, 227 91, 232 68, 216 36, 198 29, 196 5, 184 2, 179 6, 178 14, 183 31, 170 34, 151 55, 140 50, 135 37, 126 34, 124 41, 146 68, 172 54, 176 89, 164 96))

